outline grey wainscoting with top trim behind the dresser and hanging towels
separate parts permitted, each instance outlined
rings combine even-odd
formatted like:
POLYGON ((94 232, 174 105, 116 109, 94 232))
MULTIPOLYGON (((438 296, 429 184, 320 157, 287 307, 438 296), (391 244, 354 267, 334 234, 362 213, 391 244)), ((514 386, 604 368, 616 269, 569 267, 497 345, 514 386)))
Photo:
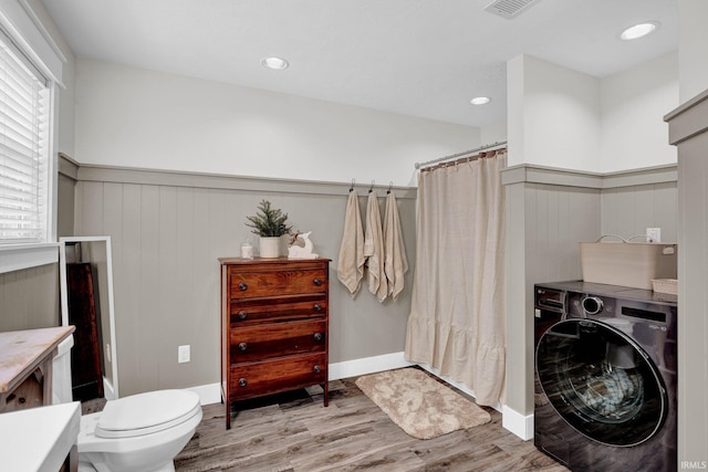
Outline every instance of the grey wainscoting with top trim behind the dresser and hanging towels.
MULTIPOLYGON (((368 293, 365 280, 352 297, 336 279, 350 183, 260 179, 256 183, 266 190, 259 191, 253 180, 243 178, 83 170, 76 183, 75 231, 112 238, 121 396, 219 381, 217 259, 238 256, 247 238, 258 245, 244 222, 262 199, 287 212, 294 229, 312 231, 315 252, 333 260, 331 361, 403 350, 413 270, 403 296, 383 304, 368 293), (180 345, 190 345, 189 363, 177 363, 180 345)), ((367 190, 357 188, 362 216, 367 190)), ((383 216, 387 187, 375 190, 383 216)), ((413 268, 416 191, 396 187, 392 191, 398 199, 413 268)))

